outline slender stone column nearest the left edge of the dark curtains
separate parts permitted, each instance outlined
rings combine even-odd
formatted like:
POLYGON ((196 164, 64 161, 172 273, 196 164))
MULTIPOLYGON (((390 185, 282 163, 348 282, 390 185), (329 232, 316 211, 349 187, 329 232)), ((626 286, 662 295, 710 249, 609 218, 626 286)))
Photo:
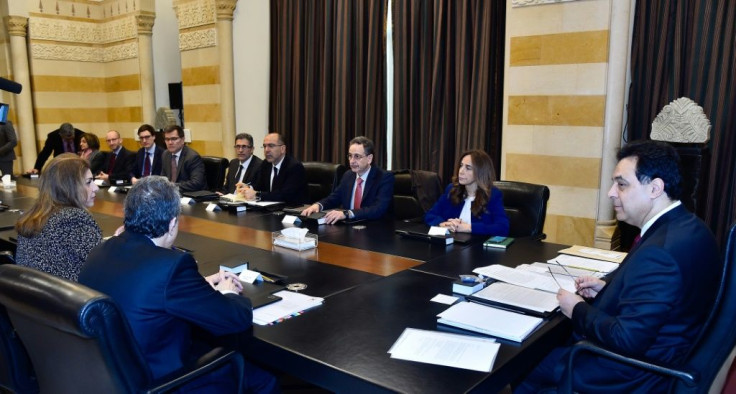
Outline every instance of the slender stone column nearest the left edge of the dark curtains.
POLYGON ((222 154, 235 156, 235 80, 233 74, 233 11, 238 0, 215 0, 217 52, 220 56, 220 122, 222 154))

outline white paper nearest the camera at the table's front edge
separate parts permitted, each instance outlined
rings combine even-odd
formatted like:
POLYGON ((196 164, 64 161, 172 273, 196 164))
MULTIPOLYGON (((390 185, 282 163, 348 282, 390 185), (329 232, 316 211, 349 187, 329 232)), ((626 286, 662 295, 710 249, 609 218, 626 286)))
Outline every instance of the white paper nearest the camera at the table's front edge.
POLYGON ((388 353, 400 360, 490 372, 500 346, 492 338, 406 328, 388 353))

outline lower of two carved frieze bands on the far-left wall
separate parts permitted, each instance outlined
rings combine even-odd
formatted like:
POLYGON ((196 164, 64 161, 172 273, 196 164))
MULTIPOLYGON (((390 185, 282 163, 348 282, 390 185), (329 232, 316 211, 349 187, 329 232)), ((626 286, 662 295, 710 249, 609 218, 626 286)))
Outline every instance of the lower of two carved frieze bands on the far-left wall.
POLYGON ((90 47, 58 44, 31 44, 34 59, 69 60, 77 62, 112 62, 138 57, 138 44, 135 42, 108 47, 90 47))

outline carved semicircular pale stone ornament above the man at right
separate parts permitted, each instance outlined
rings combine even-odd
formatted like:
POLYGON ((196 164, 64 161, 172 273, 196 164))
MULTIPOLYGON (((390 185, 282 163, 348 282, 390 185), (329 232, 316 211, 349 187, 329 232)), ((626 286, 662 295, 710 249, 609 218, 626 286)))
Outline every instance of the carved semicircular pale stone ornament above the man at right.
POLYGON ((710 120, 703 107, 687 97, 667 104, 652 122, 650 138, 658 141, 704 143, 710 139, 710 120))

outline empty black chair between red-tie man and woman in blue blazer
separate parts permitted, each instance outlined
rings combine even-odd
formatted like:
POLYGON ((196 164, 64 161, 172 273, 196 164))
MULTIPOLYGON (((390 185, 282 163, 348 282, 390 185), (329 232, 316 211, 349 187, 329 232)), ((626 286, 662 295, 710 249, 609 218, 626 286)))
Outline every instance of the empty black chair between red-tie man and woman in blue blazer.
POLYGON ((394 216, 398 220, 421 221, 442 194, 436 172, 395 170, 394 216))

